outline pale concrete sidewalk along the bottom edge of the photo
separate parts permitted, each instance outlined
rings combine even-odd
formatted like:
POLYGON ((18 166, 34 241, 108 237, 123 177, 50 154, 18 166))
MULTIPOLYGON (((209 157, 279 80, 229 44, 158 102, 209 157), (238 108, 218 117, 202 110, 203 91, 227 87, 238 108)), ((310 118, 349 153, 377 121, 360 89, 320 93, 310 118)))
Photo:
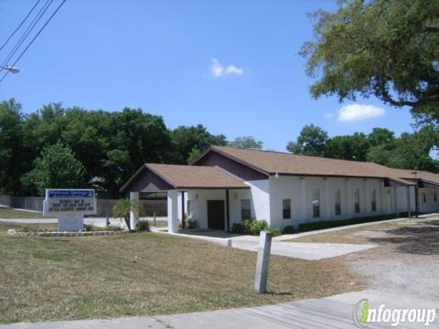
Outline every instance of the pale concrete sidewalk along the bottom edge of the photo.
MULTIPOLYGON (((355 328, 352 313, 361 299, 371 308, 385 303, 390 308, 438 308, 439 302, 415 300, 407 296, 376 291, 348 292, 319 300, 286 302, 252 308, 203 313, 128 317, 110 320, 81 320, 36 324, 6 324, 0 329, 137 329, 137 328, 355 328)), ((391 328, 391 324, 367 324, 368 328, 391 328)), ((398 328, 424 328, 424 324, 399 324, 398 328)), ((439 328, 439 313, 429 328, 439 328)))

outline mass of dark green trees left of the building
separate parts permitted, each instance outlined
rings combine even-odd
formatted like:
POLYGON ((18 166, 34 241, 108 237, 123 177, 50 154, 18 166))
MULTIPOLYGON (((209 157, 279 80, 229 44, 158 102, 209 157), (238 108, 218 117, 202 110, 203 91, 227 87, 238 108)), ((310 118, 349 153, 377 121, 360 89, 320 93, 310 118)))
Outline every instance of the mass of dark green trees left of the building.
MULTIPOLYGON (((87 111, 49 103, 25 114, 15 100, 3 101, 0 193, 42 195, 41 186, 60 184, 44 166, 59 161, 53 150, 83 165, 76 187, 93 186, 116 197, 120 186, 145 162, 187 164, 209 145, 226 143, 224 135, 209 133, 201 124, 171 130, 161 116, 140 109, 87 111), (44 179, 38 180, 41 173, 44 179)), ((70 181, 66 178, 65 185, 57 187, 74 187, 70 181)))

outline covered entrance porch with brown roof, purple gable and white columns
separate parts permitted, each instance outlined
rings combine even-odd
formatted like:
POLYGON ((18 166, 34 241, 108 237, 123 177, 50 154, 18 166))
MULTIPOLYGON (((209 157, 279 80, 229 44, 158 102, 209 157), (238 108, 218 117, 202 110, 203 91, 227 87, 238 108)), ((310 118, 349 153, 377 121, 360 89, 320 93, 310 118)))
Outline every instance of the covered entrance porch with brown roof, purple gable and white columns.
MULTIPOLYGON (((239 217, 241 198, 250 186, 215 166, 144 164, 121 188, 136 200, 139 192, 167 192, 168 232, 178 233, 188 224, 201 229, 230 231, 231 218, 239 217)), ((131 214, 131 227, 138 210, 131 214)))

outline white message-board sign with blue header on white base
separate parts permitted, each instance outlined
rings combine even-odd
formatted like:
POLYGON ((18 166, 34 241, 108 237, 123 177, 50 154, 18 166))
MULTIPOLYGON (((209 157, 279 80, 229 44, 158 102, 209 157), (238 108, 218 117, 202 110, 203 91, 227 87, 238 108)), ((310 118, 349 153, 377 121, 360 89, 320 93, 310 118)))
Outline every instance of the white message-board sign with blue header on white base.
POLYGON ((46 189, 43 216, 58 216, 58 231, 81 231, 84 215, 96 214, 96 197, 92 189, 46 189))

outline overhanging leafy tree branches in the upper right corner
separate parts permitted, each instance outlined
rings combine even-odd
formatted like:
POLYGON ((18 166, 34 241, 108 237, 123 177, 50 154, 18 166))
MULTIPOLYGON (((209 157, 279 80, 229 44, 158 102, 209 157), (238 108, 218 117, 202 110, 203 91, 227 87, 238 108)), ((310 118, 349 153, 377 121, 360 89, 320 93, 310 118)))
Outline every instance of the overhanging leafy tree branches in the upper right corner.
POLYGON ((317 11, 316 40, 300 54, 314 97, 339 101, 374 95, 408 106, 418 122, 439 124, 439 2, 340 0, 335 13, 317 11))

